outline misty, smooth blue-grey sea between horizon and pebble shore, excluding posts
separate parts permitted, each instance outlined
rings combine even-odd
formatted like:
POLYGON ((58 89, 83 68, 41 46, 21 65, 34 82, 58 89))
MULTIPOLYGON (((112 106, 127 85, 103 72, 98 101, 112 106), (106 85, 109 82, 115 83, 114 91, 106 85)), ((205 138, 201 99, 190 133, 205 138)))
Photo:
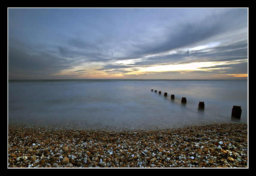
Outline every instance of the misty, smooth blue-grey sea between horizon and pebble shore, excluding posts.
POLYGON ((247 80, 8 81, 9 124, 94 130, 177 128, 230 122, 233 105, 241 106, 240 122, 247 123, 247 80), (182 97, 187 104, 181 104, 182 97), (204 115, 197 113, 199 101, 205 102, 204 115))

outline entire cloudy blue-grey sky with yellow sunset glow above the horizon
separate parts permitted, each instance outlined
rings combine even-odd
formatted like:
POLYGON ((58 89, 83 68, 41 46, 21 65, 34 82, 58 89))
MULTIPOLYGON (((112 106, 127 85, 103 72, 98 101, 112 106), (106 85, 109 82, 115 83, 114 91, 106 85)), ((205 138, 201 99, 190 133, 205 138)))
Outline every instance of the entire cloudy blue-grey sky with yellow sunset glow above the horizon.
POLYGON ((248 8, 8 8, 8 79, 248 79, 248 8))

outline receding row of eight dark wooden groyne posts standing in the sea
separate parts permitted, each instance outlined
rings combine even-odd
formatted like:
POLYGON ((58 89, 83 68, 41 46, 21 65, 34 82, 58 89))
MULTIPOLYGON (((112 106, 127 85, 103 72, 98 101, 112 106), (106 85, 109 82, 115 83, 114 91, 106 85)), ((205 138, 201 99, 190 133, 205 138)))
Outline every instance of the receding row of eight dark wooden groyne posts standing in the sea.
MULTIPOLYGON (((153 91, 153 89, 151 89, 151 91, 153 91)), ((155 92, 157 92, 157 90, 155 90, 155 92)), ((161 94, 161 91, 159 91, 159 94, 161 94)), ((164 93, 164 96, 167 96, 167 92, 164 93)), ((171 99, 174 99, 174 95, 171 95, 171 99)), ((182 97, 181 103, 187 103, 186 97, 182 97)), ((204 110, 205 110, 205 102, 199 101, 197 111, 200 113, 203 113, 204 110)), ((242 114, 241 106, 234 105, 232 108, 231 120, 232 121, 240 121, 241 114, 242 114)))

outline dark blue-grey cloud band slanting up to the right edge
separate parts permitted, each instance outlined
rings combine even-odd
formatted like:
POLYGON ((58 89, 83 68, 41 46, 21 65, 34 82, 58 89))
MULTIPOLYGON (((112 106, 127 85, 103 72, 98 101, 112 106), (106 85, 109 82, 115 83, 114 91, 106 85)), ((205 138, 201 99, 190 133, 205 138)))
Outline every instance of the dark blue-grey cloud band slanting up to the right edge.
POLYGON ((133 51, 129 51, 131 53, 129 55, 132 59, 145 54, 157 54, 189 46, 225 32, 234 32, 247 26, 245 10, 235 9, 219 14, 213 13, 202 21, 180 22, 178 25, 166 26, 163 30, 166 31, 165 38, 160 42, 152 40, 152 42, 132 44, 133 51))

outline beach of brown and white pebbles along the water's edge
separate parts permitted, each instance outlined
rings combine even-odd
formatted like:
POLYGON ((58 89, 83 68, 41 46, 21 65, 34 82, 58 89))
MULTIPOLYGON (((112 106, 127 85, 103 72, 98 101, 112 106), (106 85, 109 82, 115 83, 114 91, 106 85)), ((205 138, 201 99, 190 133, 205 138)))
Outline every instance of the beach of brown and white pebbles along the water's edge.
POLYGON ((8 126, 8 168, 247 168, 243 123, 134 131, 8 126))

